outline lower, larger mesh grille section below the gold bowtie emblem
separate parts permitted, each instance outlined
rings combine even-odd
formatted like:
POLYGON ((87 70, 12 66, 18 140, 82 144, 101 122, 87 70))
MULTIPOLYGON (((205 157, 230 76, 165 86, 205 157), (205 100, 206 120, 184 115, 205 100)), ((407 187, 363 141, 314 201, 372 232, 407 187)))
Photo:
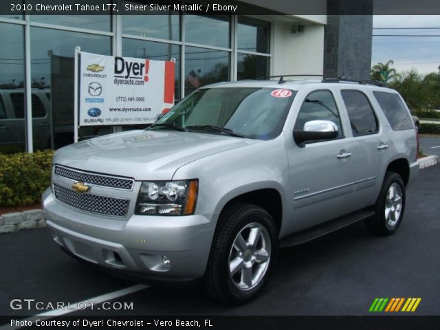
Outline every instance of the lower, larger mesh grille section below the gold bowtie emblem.
POLYGON ((54 184, 56 199, 87 212, 124 217, 129 209, 129 199, 80 194, 75 190, 54 184))

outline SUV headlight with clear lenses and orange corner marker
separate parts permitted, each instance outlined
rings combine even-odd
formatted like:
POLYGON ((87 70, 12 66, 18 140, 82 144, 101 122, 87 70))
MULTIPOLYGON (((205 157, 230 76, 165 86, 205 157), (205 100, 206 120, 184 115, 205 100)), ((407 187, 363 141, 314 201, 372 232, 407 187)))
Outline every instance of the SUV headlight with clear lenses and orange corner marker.
POLYGON ((144 181, 137 196, 135 214, 193 214, 197 202, 199 181, 144 181))

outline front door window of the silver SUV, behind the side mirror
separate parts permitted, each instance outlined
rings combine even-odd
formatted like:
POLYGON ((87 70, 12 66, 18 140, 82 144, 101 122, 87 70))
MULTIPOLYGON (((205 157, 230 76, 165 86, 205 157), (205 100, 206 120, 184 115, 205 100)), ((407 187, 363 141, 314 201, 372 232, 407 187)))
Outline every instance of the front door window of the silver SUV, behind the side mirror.
POLYGON ((338 126, 338 137, 342 137, 342 126, 335 100, 330 91, 314 91, 301 106, 296 118, 295 130, 303 130, 310 120, 330 120, 338 126))

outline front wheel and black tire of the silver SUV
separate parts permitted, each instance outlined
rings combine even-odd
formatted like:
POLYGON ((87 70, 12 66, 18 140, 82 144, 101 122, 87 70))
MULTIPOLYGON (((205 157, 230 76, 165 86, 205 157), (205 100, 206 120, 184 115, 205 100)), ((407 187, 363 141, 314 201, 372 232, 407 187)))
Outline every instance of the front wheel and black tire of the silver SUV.
POLYGON ((277 230, 265 209, 248 203, 228 206, 214 234, 205 291, 234 305, 253 300, 267 285, 277 252, 277 230))

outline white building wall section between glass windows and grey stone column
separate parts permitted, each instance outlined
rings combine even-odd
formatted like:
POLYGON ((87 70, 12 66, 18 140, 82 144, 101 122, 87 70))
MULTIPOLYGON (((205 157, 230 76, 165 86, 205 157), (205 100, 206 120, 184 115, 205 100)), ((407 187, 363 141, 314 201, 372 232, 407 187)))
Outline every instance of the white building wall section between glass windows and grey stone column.
POLYGON ((272 25, 271 75, 322 74, 325 25, 305 25, 304 32, 295 34, 291 32, 292 25, 280 21, 272 25))

